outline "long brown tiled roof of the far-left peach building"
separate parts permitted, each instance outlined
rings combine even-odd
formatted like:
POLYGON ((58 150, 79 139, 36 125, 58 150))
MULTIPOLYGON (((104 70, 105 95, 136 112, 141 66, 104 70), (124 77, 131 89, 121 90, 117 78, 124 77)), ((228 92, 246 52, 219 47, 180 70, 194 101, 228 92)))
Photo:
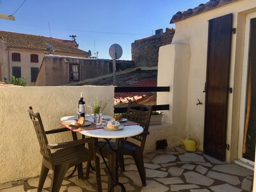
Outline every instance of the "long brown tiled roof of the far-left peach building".
POLYGON ((74 47, 70 40, 60 40, 57 38, 49 38, 38 35, 28 35, 23 33, 13 33, 8 31, 0 31, 0 40, 3 40, 10 48, 34 49, 45 51, 48 44, 52 44, 54 52, 64 52, 79 55, 87 55, 88 52, 74 47))

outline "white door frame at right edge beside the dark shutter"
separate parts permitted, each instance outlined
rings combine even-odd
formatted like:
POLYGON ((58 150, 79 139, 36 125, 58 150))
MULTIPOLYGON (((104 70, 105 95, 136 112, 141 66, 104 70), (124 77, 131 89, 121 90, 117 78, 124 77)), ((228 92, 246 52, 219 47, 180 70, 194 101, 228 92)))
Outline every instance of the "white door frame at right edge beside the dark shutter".
MULTIPOLYGON (((237 147, 237 158, 245 164, 250 164, 254 167, 254 162, 243 158, 243 139, 244 139, 244 122, 246 112, 246 98, 247 98, 247 81, 248 81, 248 65, 249 65, 249 51, 250 51, 250 22, 251 19, 256 18, 256 12, 248 13, 246 15, 245 31, 244 31, 244 56, 243 56, 243 71, 241 82, 241 102, 239 115, 239 136, 237 147), (248 36, 248 38, 245 38, 248 36)), ((250 166, 250 167, 251 167, 250 166)))

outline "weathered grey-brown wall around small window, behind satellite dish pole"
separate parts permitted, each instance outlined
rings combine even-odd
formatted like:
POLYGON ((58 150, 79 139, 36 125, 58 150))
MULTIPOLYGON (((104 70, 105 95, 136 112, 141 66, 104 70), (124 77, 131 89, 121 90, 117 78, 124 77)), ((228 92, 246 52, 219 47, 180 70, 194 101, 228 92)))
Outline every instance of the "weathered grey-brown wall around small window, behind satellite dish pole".
MULTIPOLYGON (((79 81, 113 73, 113 61, 102 59, 45 56, 35 86, 60 86, 70 81, 70 64, 79 65, 79 81)), ((134 68, 134 61, 116 60, 116 71, 134 68)))

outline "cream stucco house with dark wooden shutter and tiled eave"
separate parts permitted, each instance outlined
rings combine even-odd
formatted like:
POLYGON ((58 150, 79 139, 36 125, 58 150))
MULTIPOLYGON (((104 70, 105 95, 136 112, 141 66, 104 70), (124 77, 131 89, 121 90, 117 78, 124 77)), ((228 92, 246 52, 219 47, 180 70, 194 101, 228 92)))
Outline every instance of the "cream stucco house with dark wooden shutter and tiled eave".
POLYGON ((256 1, 211 0, 170 23, 175 35, 160 47, 157 81, 172 87, 157 94, 158 103, 170 100, 170 132, 195 136, 216 159, 254 168, 256 1))

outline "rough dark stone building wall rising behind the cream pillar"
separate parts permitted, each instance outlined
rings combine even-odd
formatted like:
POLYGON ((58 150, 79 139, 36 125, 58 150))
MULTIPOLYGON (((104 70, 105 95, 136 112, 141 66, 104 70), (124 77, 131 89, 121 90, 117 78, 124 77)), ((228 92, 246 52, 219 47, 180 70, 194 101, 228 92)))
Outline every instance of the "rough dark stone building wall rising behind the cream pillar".
POLYGON ((156 35, 135 40, 131 46, 132 60, 135 62, 136 67, 156 67, 159 47, 171 44, 174 33, 175 29, 173 28, 166 28, 164 33, 163 29, 157 29, 156 35))

